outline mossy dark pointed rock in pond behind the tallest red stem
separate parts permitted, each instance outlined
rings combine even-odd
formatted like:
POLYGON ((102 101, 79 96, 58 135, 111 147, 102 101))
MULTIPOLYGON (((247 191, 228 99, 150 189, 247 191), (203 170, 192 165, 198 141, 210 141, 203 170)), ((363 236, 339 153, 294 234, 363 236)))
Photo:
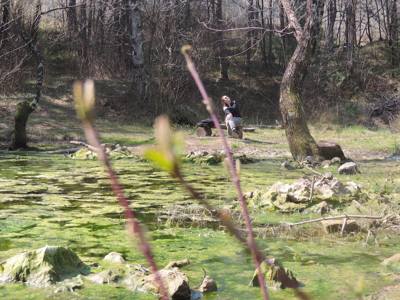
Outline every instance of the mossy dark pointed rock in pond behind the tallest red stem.
MULTIPOLYGON (((283 267, 282 263, 276 258, 267 258, 261 263, 261 273, 264 284, 269 288, 282 289, 285 287, 298 286, 296 278, 288 268, 283 267)), ((259 286, 258 270, 255 269, 250 285, 259 286)))

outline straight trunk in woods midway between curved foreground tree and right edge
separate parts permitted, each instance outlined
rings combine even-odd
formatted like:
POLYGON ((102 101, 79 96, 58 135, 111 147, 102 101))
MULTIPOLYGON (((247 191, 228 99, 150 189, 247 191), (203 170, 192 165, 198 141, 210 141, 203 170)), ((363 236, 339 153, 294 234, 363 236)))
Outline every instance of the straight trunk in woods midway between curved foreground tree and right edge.
POLYGON ((355 45, 355 0, 346 0, 346 52, 347 77, 353 73, 355 45))

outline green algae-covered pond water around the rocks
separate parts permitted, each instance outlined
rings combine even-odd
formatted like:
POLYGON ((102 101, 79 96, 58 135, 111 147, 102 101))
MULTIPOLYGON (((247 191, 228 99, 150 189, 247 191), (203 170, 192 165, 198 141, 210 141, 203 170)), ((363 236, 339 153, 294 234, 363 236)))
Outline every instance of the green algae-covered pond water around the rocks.
MULTIPOLYGON (((249 286, 254 271, 250 253, 217 225, 168 223, 164 215, 170 207, 185 207, 192 200, 167 173, 151 163, 134 159, 112 162, 124 192, 140 222, 148 228, 157 266, 170 260, 188 258, 182 268, 190 287, 206 274, 217 283, 218 291, 205 299, 260 299, 258 287, 249 286)), ((185 164, 188 181, 215 206, 234 203, 235 192, 221 165, 185 164)), ((275 160, 242 165, 242 186, 262 189, 277 180, 292 182, 298 170, 284 174, 275 160), (266 172, 267 170, 267 172, 266 172)), ((177 208, 178 209, 178 208, 177 208)), ((287 216, 267 212, 254 221, 288 218, 306 219, 301 214, 287 216)), ((146 265, 134 237, 124 230, 124 218, 108 185, 102 166, 94 160, 72 160, 63 156, 0 152, 0 261, 24 250, 44 245, 68 246, 80 259, 98 261, 110 251, 125 255, 131 263, 146 265)), ((387 235, 387 234, 386 234, 387 235)), ((304 237, 304 236, 303 236, 304 237)), ((275 234, 258 238, 267 257, 276 257, 293 271, 302 290, 312 299, 352 299, 354 286, 364 280, 363 293, 395 284, 393 276, 379 263, 398 251, 396 234, 378 247, 356 238, 329 236, 287 238, 275 234)), ((1 299, 156 299, 152 294, 127 290, 117 284, 99 285, 84 281, 73 292, 55 293, 23 283, 0 283, 1 299)), ((269 290, 271 299, 294 298, 290 289, 269 290)))

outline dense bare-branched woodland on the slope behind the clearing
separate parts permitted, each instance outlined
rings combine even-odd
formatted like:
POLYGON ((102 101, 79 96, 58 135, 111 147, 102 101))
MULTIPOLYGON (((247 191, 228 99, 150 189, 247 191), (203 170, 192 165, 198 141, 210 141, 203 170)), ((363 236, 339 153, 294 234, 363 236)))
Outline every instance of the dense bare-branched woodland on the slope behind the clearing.
MULTIPOLYGON (((399 110, 397 0, 328 0, 305 80, 304 107, 322 123, 384 126, 399 110)), ((306 1, 291 1, 304 22, 306 1)), ((100 116, 151 123, 207 115, 180 53, 211 98, 239 100, 247 123, 280 119, 279 86, 296 40, 276 0, 1 0, 0 92, 97 81, 100 116), (100 84, 98 84, 100 83, 100 84)), ((51 101, 51 99, 49 99, 51 101)), ((5 106, 4 106, 5 107, 5 106)), ((4 110, 2 114, 12 113, 4 110)))

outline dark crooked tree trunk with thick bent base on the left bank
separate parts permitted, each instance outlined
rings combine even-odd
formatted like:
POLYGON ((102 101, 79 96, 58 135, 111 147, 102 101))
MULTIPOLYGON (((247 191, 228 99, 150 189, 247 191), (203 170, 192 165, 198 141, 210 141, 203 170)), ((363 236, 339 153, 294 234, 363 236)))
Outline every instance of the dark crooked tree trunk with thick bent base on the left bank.
POLYGON ((36 17, 32 24, 32 36, 26 36, 25 31, 16 23, 17 27, 19 28, 19 32, 25 41, 26 45, 29 46, 30 50, 36 57, 38 62, 37 65, 37 80, 35 84, 35 96, 32 100, 25 99, 22 102, 17 104, 17 109, 14 117, 14 136, 12 140, 12 144, 10 149, 17 149, 17 148, 25 148, 27 146, 27 138, 26 138, 26 121, 29 117, 29 114, 37 108, 39 105, 40 100, 40 92, 43 83, 43 59, 40 55, 39 50, 36 47, 36 40, 34 36, 37 33, 37 28, 40 22, 40 12, 41 12, 41 1, 37 2, 36 5, 36 17))

